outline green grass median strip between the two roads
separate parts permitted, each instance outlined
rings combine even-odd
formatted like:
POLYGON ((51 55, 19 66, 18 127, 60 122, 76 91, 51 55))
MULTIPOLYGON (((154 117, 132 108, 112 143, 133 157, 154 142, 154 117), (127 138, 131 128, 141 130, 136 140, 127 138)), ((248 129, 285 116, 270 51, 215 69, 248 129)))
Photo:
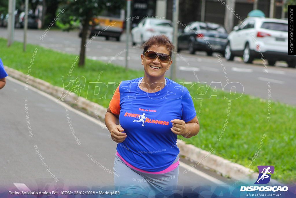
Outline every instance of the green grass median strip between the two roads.
MULTIPOLYGON (((6 45, 6 39, 0 38, 0 58, 4 65, 27 73, 30 59, 37 48, 30 75, 59 87, 63 87, 61 77, 67 76, 76 57, 76 55, 29 44, 24 53, 20 42, 14 42, 11 47, 6 47, 6 45)), ((126 72, 121 66, 106 65, 102 61, 87 59, 83 68, 79 68, 76 64, 71 75, 84 76, 88 86, 89 82, 119 83, 144 74, 142 71, 135 70, 126 72)), ((87 97, 87 86, 80 96, 87 97)), ((193 98, 198 97, 200 90, 197 91, 194 86, 187 85, 186 87, 193 98)), ((102 88, 100 91, 107 93, 107 98, 111 98, 113 88, 114 86, 111 85, 108 89, 102 88)), ((209 98, 213 91, 210 88, 206 92, 206 89, 204 88, 202 92, 205 93, 204 98, 209 98)), ((219 97, 231 98, 230 93, 223 93, 222 90, 217 92, 219 97)), ((108 107, 110 102, 110 99, 90 100, 104 107, 108 107)), ((200 122, 200 132, 189 139, 179 138, 205 151, 213 148, 214 154, 245 167, 250 166, 250 169, 255 172, 258 172, 257 166, 259 165, 272 165, 275 167, 273 179, 284 183, 295 182, 296 163, 293 159, 296 147, 296 107, 279 102, 271 102, 268 105, 268 101, 245 94, 238 99, 231 100, 230 105, 228 103, 228 99, 217 99, 216 96, 202 101, 194 100, 200 122), (271 107, 270 116, 267 115, 268 106, 271 107), (269 121, 267 117, 270 117, 269 121), (222 131, 223 126, 225 131, 222 131), (264 139, 263 134, 266 135, 264 139), (218 139, 219 136, 221 139, 218 139), (258 156, 255 156, 256 151, 258 151, 258 156), (252 162, 253 156, 256 159, 252 162)))

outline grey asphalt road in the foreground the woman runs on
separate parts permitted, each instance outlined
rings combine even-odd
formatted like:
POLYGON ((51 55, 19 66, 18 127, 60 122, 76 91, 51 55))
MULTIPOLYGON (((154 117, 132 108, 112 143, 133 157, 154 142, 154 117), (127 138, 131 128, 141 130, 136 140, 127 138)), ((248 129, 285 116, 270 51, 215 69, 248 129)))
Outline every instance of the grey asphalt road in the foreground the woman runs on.
MULTIPOLYGON (((24 189, 24 185, 30 190, 49 191, 68 190, 70 186, 112 186, 113 175, 108 170, 113 171, 116 143, 108 136, 104 123, 57 103, 44 92, 24 87, 24 83, 7 77, 0 91, 0 192, 3 187, 24 189)), ((201 168, 201 172, 194 169, 183 174, 192 164, 181 161, 180 186, 231 182, 201 168)))

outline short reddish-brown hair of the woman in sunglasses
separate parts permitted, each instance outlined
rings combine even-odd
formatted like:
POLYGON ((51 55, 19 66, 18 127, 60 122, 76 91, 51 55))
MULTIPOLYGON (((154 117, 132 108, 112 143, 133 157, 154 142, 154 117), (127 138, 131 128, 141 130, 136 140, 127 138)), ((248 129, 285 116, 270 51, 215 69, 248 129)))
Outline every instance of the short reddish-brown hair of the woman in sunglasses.
POLYGON ((175 51, 175 46, 173 45, 172 42, 170 42, 170 39, 165 36, 164 34, 162 35, 154 35, 150 37, 142 46, 143 48, 143 54, 149 50, 151 46, 164 46, 168 51, 169 55, 172 58, 172 52, 175 51))

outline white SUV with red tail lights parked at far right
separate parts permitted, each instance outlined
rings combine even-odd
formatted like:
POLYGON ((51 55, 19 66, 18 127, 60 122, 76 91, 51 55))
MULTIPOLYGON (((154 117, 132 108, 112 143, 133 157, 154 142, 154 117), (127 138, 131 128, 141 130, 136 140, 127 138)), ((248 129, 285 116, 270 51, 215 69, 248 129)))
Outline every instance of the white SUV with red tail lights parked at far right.
POLYGON ((225 58, 243 57, 245 63, 254 58, 268 60, 273 66, 276 61, 286 61, 289 67, 296 66, 296 56, 288 55, 288 21, 282 19, 248 17, 235 26, 227 37, 225 58))

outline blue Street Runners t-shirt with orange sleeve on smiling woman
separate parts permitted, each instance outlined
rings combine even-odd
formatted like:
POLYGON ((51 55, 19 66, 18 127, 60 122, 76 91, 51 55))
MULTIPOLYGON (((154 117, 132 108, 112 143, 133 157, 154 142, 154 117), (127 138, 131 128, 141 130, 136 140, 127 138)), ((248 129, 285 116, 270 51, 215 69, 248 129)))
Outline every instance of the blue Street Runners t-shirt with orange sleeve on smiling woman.
POLYGON ((127 134, 118 143, 117 152, 136 168, 158 172, 168 168, 179 153, 170 121, 188 122, 196 112, 184 86, 166 78, 163 89, 147 93, 138 86, 141 78, 122 81, 110 102, 110 110, 119 114, 120 125, 127 134))

